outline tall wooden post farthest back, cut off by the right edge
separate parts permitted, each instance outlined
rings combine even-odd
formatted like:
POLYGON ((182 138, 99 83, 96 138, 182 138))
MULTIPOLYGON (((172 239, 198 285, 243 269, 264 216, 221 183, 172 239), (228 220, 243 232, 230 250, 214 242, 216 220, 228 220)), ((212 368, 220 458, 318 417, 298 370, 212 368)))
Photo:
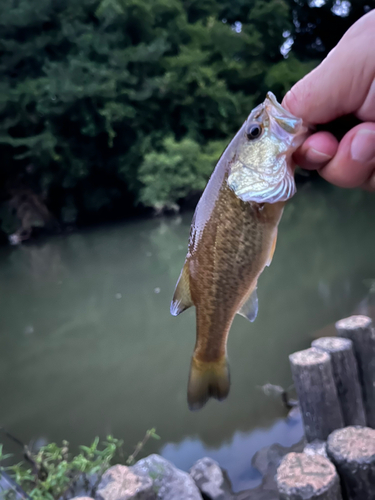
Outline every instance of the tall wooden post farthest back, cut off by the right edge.
POLYGON ((375 332, 367 316, 351 316, 336 323, 340 337, 353 342, 362 386, 367 425, 375 428, 375 332))

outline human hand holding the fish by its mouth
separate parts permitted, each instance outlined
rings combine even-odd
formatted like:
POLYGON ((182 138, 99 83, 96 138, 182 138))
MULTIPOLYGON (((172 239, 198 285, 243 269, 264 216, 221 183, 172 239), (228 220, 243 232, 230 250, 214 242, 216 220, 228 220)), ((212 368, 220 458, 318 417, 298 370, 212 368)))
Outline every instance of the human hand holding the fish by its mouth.
POLYGON ((292 87, 282 105, 309 125, 348 114, 363 121, 340 142, 329 132, 314 133, 294 158, 337 186, 375 191, 375 10, 353 24, 322 63, 292 87))

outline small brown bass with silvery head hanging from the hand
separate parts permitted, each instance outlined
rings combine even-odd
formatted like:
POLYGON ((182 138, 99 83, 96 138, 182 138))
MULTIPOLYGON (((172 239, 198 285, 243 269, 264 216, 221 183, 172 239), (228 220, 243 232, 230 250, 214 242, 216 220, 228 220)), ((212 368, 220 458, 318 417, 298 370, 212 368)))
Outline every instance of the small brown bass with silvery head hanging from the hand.
POLYGON ((285 202, 296 192, 293 152, 302 120, 268 92, 219 159, 197 204, 170 312, 196 309, 187 400, 199 410, 230 389, 227 339, 236 314, 253 322, 257 283, 275 251, 285 202))

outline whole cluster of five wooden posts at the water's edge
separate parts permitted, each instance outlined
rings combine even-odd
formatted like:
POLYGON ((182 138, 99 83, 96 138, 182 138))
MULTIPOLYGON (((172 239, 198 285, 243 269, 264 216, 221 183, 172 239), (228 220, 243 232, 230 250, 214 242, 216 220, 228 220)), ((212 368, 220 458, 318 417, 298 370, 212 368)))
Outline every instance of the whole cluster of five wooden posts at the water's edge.
POLYGON ((289 357, 307 445, 278 468, 281 500, 375 500, 375 330, 351 316, 336 331, 289 357))

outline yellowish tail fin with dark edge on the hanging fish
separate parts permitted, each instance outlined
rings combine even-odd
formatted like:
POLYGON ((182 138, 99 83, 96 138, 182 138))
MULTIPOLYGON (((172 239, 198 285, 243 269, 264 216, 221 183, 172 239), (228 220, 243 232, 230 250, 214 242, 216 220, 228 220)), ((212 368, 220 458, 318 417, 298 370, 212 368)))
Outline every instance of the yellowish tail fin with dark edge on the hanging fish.
POLYGON ((188 384, 190 410, 200 410, 210 398, 222 401, 228 396, 229 388, 230 376, 226 356, 210 362, 192 358, 188 384))

